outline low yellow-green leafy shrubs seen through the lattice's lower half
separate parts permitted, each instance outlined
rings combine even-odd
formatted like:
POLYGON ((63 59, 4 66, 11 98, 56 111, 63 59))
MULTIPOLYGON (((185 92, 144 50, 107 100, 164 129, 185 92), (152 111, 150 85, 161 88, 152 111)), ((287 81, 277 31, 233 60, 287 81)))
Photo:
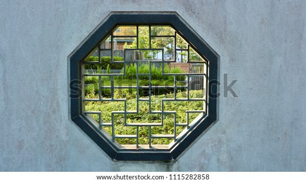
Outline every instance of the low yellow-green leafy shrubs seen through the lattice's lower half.
MULTIPOLYGON (((115 93, 120 94, 120 93, 115 93)), ((122 93, 126 94, 127 99, 127 110, 136 110, 136 98, 135 94, 129 94, 128 92, 122 93), (133 96, 134 95, 134 96, 133 96)), ((183 96, 186 96, 185 92, 181 93, 183 96)), ((122 95, 123 96, 123 95, 122 95)), ((191 98, 200 98, 203 97, 203 90, 190 91, 191 98)), ((161 110, 161 99, 162 98, 173 98, 173 94, 168 95, 159 95, 157 97, 151 97, 151 109, 152 110, 161 110)), ((164 110, 165 111, 176 111, 176 122, 185 123, 187 110, 202 110, 203 101, 168 101, 165 102, 164 110)), ((128 123, 160 123, 161 114, 148 114, 148 102, 139 102, 139 114, 127 114, 128 123)), ((88 102, 86 111, 101 111, 101 120, 103 122, 111 121, 111 112, 112 111, 124 111, 124 102, 123 101, 104 101, 104 102, 88 102)), ((191 122, 198 116, 199 113, 192 113, 189 115, 191 122)), ((98 121, 98 115, 91 115, 96 121, 98 121)), ((115 135, 135 135, 136 127, 127 127, 124 126, 124 115, 116 114, 114 115, 114 125, 115 125, 115 135)), ((110 135, 112 134, 112 128, 110 126, 103 127, 110 135)), ((179 135, 185 126, 176 127, 176 135, 179 135)), ((148 144, 148 127, 139 127, 139 143, 148 144)), ((164 126, 152 126, 152 134, 174 134, 173 126, 173 114, 164 114, 164 126)), ((152 144, 169 144, 173 139, 152 139, 152 144)), ((135 144, 134 140, 131 139, 120 139, 117 140, 120 144, 135 144)))

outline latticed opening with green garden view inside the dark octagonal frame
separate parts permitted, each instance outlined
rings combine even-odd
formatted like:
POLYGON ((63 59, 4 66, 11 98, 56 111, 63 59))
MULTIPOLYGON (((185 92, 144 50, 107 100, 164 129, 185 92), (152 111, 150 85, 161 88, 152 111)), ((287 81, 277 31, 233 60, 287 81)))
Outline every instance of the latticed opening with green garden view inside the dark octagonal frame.
POLYGON ((207 113, 207 61, 170 26, 118 25, 82 66, 83 113, 119 148, 168 149, 207 113))

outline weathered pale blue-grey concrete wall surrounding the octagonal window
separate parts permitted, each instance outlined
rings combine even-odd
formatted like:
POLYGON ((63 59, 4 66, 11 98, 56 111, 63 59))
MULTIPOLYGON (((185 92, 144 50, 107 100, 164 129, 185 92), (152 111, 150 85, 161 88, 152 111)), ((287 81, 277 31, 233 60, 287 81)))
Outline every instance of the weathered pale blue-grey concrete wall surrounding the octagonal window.
POLYGON ((306 1, 1 1, 0 171, 306 171, 306 1), (111 11, 176 11, 220 55, 218 121, 176 162, 113 162, 68 119, 67 57, 111 11))

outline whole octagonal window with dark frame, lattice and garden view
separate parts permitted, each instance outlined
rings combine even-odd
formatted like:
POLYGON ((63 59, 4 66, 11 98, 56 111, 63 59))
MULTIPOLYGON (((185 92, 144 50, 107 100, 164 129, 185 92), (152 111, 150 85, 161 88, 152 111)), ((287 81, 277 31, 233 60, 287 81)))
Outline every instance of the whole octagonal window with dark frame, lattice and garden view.
POLYGON ((174 160, 216 120, 217 60, 176 13, 111 13, 70 56, 72 121, 115 160, 174 160))

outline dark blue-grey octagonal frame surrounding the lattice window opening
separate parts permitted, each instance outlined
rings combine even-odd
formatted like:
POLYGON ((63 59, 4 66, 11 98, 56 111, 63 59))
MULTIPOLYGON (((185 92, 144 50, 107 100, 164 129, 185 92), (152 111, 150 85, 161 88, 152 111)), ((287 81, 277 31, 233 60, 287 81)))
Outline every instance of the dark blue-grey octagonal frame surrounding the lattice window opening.
POLYGON ((174 160, 203 133, 217 116, 217 71, 219 57, 215 51, 201 39, 176 12, 112 12, 69 56, 69 105, 71 120, 77 124, 101 149, 113 160, 130 161, 170 161, 174 160), (200 55, 208 60, 208 112, 191 131, 168 150, 122 150, 103 136, 82 113, 81 69, 84 60, 101 40, 118 24, 158 24, 171 25, 184 35, 186 41, 196 48, 200 55))

